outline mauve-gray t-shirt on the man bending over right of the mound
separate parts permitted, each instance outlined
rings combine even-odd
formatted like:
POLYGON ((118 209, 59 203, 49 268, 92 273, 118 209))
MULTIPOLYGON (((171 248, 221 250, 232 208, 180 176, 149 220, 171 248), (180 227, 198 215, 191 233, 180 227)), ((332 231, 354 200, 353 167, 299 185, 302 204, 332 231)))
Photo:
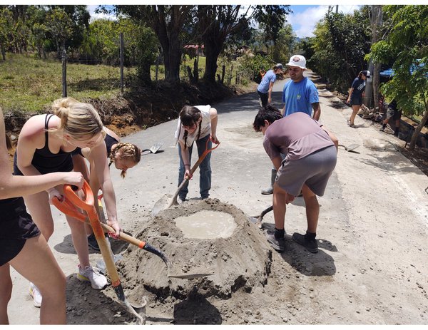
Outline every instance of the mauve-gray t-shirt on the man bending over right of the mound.
POLYGON ((285 154, 285 160, 298 160, 317 150, 334 145, 317 120, 307 113, 292 113, 275 120, 265 132, 265 147, 270 159, 285 154))

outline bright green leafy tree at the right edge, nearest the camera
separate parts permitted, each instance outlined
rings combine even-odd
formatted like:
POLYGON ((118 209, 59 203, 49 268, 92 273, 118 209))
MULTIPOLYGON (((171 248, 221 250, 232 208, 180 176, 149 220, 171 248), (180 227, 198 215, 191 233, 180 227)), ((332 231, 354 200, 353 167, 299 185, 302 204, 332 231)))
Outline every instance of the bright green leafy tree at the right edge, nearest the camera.
POLYGON ((387 38, 372 46, 374 63, 394 64, 392 79, 382 86, 387 98, 395 98, 404 114, 422 115, 410 140, 413 150, 417 136, 428 120, 428 6, 384 6, 392 17, 387 38))

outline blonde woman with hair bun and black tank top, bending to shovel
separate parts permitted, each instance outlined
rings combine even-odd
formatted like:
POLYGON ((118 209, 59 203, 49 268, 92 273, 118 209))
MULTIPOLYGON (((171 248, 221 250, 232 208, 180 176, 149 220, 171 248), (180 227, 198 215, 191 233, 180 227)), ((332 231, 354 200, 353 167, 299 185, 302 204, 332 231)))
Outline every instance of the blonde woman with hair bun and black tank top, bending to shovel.
MULTIPOLYGON (((14 157, 14 175, 42 175, 51 172, 73 171, 72 153, 76 148, 88 148, 93 158, 94 173, 104 193, 108 224, 116 230, 113 237, 118 237, 120 227, 116 213, 116 197, 111 184, 106 145, 103 138, 101 118, 91 104, 81 103, 73 98, 61 98, 52 105, 53 114, 34 115, 26 121, 19 134, 14 157)), ((49 202, 58 197, 62 199, 63 187, 47 189, 24 197, 29 209, 46 241, 54 232, 54 220, 49 202)), ((73 246, 78 256, 77 277, 81 281, 91 282, 93 289, 103 289, 107 279, 89 263, 88 240, 84 223, 66 215, 71 229, 73 246)), ((31 295, 34 305, 40 306, 41 293, 31 283, 31 295)))

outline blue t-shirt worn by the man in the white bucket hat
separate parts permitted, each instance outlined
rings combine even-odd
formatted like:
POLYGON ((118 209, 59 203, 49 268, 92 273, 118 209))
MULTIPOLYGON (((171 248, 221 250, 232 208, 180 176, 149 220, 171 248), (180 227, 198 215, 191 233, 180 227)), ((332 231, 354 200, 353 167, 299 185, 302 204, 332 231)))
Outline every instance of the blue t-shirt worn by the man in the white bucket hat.
POLYGON ((307 77, 298 83, 287 81, 282 91, 282 102, 285 103, 284 117, 297 112, 312 115, 312 103, 319 101, 317 87, 307 77))

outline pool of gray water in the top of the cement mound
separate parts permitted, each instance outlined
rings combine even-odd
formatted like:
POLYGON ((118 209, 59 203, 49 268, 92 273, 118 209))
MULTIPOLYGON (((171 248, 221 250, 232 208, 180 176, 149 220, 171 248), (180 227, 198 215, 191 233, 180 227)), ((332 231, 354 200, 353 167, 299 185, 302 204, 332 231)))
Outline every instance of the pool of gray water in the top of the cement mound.
POLYGON ((233 216, 226 212, 202 210, 185 217, 176 217, 175 225, 185 237, 215 239, 230 237, 235 230, 233 216))

